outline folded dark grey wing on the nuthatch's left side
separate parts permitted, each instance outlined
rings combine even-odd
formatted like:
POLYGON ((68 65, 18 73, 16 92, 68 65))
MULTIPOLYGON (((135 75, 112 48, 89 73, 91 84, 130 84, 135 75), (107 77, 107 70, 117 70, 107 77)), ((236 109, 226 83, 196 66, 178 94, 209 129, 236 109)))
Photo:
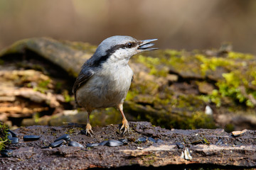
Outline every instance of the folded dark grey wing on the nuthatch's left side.
POLYGON ((82 84, 85 84, 92 76, 95 74, 95 72, 92 69, 87 68, 85 70, 82 68, 82 71, 78 75, 78 78, 75 80, 75 84, 73 86, 73 94, 75 95, 75 101, 76 101, 76 91, 82 86, 82 84))

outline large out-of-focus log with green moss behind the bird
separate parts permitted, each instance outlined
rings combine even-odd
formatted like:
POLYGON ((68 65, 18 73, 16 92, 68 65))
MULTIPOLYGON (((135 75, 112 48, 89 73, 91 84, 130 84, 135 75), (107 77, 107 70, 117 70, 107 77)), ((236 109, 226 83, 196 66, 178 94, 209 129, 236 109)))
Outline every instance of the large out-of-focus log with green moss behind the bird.
MULTIPOLYGON (((95 49, 84 42, 31 38, 1 50, 0 119, 18 125, 73 120, 74 112, 66 111, 75 109, 71 88, 95 49), (23 90, 31 96, 22 94, 23 90)), ((157 50, 134 56, 129 62, 134 81, 124 111, 129 120, 149 120, 169 129, 254 129, 255 61, 255 56, 233 52, 230 47, 157 50)), ((92 125, 121 120, 112 108, 94 111, 92 117, 92 125)))

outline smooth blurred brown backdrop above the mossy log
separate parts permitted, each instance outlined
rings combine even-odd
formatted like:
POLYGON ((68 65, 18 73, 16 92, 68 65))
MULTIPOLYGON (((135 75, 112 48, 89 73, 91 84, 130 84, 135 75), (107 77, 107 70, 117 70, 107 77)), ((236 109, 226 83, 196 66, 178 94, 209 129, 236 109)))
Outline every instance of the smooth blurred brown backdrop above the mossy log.
POLYGON ((158 38, 176 50, 232 42, 256 54, 253 0, 0 0, 0 50, 16 40, 47 36, 98 45, 111 35, 158 38))

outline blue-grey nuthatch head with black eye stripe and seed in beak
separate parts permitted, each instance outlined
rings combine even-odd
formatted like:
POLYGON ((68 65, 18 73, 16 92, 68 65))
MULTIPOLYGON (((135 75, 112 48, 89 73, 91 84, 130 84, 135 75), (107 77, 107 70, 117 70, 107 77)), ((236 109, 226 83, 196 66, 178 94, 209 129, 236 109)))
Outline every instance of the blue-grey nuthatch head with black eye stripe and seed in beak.
MULTIPOLYGON (((118 62, 128 60, 139 52, 157 50, 151 43, 157 39, 136 40, 129 36, 115 35, 103 40, 93 55, 93 64, 100 65, 104 62, 118 62)), ((126 62, 125 62, 126 61, 126 62)), ((91 61, 92 62, 92 61, 91 61)))

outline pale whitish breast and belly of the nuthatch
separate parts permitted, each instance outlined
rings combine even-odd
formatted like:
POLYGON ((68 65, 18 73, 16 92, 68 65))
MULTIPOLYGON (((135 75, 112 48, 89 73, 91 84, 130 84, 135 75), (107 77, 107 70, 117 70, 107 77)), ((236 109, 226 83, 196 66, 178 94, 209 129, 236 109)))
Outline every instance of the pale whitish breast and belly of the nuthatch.
POLYGON ((106 66, 77 91, 78 103, 85 108, 107 108, 124 102, 132 81, 132 69, 106 66))

